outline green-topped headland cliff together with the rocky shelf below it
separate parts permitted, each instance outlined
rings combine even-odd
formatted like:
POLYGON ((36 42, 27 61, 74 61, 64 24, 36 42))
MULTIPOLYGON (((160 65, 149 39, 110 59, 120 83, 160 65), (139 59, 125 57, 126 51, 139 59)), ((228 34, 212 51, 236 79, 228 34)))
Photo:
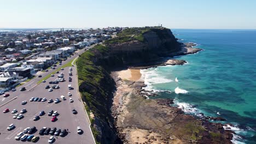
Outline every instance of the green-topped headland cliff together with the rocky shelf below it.
POLYGON ((96 141, 230 143, 232 136, 221 124, 184 115, 177 107, 170 106, 170 103, 159 103, 162 100, 146 100, 139 94, 141 86, 110 76, 111 71, 127 67, 140 69, 184 64, 185 61, 170 57, 200 50, 178 43, 170 29, 145 27, 125 29, 117 37, 80 55, 77 61, 79 91, 86 103, 86 111, 90 113, 96 141), (120 81, 129 91, 119 95, 121 104, 113 105, 114 95, 120 89, 120 81), (143 113, 145 114, 142 115, 143 113), (179 127, 181 125, 184 127, 179 127), (136 134, 145 136, 137 138, 136 134))

